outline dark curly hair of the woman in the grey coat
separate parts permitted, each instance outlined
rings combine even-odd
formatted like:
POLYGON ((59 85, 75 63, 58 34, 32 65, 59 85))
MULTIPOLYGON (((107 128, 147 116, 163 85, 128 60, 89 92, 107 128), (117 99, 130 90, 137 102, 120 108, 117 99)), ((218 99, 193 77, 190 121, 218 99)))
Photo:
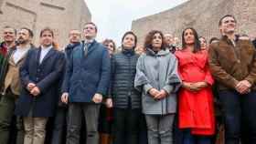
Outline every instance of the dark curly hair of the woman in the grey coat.
POLYGON ((161 49, 165 49, 165 46, 166 46, 165 36, 160 30, 152 30, 145 36, 144 47, 145 48, 152 48, 153 47, 152 46, 152 41, 154 39, 155 34, 160 34, 160 36, 162 37, 161 49))

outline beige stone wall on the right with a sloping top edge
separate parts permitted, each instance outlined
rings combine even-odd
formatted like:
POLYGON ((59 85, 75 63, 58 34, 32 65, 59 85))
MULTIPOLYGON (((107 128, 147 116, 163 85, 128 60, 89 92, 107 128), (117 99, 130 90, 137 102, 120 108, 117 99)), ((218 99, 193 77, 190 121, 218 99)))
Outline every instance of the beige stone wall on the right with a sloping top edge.
POLYGON ((139 37, 139 45, 152 29, 162 30, 180 37, 186 27, 197 29, 199 36, 209 40, 219 36, 219 18, 235 15, 238 32, 256 36, 256 1, 254 0, 190 0, 159 14, 149 15, 133 21, 132 30, 139 37))

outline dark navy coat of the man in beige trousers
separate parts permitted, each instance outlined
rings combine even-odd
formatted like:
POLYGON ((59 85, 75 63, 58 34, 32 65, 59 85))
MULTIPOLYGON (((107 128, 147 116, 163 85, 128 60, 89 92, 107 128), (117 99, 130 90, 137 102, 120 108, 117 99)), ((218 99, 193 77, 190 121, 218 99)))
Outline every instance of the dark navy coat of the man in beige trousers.
POLYGON ((16 103, 16 115, 27 117, 32 108, 32 117, 52 117, 58 101, 59 79, 65 65, 65 56, 54 48, 48 51, 39 64, 41 48, 30 49, 22 67, 20 78, 22 91, 16 103), (35 83, 40 94, 33 97, 27 90, 28 83, 35 83))

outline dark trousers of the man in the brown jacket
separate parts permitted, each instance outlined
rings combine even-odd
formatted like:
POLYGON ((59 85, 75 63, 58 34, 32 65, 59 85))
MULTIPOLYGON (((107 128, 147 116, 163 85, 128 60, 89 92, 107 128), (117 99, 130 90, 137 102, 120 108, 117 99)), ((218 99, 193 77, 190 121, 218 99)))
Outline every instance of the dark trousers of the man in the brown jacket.
POLYGON ((220 91, 225 123, 225 143, 255 144, 256 142, 256 92, 240 95, 234 90, 220 91), (246 141, 246 142, 245 142, 246 141))

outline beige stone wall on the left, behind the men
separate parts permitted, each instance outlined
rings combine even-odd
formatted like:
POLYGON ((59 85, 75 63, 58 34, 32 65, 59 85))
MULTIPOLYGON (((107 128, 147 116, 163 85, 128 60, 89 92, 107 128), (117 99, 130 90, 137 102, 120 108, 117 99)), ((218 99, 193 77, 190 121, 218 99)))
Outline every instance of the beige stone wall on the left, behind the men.
POLYGON ((49 26, 54 29, 60 47, 68 43, 69 30, 82 29, 91 21, 91 13, 84 0, 0 0, 0 29, 4 26, 27 26, 35 33, 49 26))

